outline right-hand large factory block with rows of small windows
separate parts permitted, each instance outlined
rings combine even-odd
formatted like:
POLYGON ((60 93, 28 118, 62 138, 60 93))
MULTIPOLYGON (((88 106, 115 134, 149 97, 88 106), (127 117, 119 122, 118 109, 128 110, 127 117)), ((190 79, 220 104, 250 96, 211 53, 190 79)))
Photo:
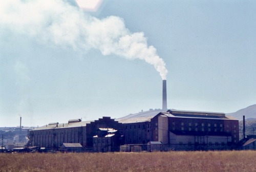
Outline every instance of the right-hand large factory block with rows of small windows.
POLYGON ((125 144, 159 141, 167 149, 230 149, 239 140, 238 120, 224 113, 168 110, 153 117, 119 120, 125 144))

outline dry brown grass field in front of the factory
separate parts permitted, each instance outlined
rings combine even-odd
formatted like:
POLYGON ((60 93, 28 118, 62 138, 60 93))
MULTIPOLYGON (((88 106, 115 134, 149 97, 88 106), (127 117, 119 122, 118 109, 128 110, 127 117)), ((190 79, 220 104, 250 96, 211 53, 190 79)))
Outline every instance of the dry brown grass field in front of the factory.
POLYGON ((256 171, 256 152, 0 154, 0 171, 256 171))

